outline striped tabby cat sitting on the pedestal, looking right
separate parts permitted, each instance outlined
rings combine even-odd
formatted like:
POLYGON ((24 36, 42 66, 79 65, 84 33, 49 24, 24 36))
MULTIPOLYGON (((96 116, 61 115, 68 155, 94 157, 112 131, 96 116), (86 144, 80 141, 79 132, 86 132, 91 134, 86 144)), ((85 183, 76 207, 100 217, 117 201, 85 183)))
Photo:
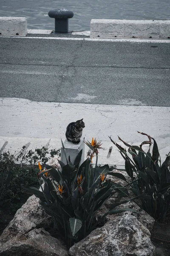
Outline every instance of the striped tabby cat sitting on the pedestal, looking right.
POLYGON ((80 142, 82 129, 85 128, 85 123, 82 121, 82 119, 77 120, 76 122, 71 122, 66 129, 65 136, 67 140, 74 144, 78 144, 80 142))

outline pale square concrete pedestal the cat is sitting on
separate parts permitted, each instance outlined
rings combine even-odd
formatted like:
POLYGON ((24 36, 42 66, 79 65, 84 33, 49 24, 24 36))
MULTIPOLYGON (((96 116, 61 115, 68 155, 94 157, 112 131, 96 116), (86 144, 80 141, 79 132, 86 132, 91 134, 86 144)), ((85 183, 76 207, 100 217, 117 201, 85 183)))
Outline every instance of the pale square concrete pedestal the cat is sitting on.
MULTIPOLYGON (((70 156, 70 160, 71 163, 74 163, 74 160, 77 157, 77 154, 79 153, 79 151, 82 149, 82 158, 81 158, 81 162, 80 164, 82 164, 85 160, 85 143, 84 143, 84 139, 80 140, 79 144, 74 144, 72 142, 69 142, 67 139, 64 141, 64 147, 65 147, 65 151, 66 151, 66 156, 68 159, 68 156, 70 156)), ((61 147, 61 161, 65 164, 67 164, 66 158, 65 158, 65 153, 63 150, 63 147, 61 147)))

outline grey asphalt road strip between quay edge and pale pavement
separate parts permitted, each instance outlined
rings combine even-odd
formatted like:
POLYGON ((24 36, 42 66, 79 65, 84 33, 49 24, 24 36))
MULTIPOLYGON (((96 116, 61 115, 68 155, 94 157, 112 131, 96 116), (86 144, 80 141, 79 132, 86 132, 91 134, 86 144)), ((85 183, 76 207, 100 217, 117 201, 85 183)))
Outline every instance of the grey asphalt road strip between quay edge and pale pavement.
POLYGON ((170 44, 1 37, 0 97, 170 107, 170 44))

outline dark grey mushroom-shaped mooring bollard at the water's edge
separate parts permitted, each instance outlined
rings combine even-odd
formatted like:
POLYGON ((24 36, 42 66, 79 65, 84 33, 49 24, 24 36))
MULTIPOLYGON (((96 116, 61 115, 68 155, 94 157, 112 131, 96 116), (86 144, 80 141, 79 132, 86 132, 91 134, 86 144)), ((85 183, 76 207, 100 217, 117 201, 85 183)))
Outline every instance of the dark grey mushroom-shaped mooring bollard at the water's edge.
POLYGON ((55 19, 54 32, 68 33, 68 19, 74 16, 73 12, 66 9, 57 9, 49 11, 48 16, 55 19))

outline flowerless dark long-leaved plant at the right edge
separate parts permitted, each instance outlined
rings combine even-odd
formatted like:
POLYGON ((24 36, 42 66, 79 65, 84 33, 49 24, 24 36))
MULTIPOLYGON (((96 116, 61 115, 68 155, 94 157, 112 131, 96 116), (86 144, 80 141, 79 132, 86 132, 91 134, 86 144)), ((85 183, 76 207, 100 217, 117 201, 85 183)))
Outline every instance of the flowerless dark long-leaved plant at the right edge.
MULTIPOLYGON (((132 155, 132 159, 122 146, 114 142, 111 137, 110 139, 125 159, 125 171, 132 180, 131 190, 142 201, 143 209, 161 222, 170 211, 170 153, 167 154, 164 163, 161 163, 156 141, 147 134, 140 134, 148 137, 148 141, 144 141, 140 147, 132 146, 119 138, 129 147, 128 152, 132 155), (142 145, 145 144, 149 144, 147 153, 142 149, 142 145), (153 145, 152 154, 151 145, 153 145)), ((125 177, 123 179, 126 180, 125 177)))

